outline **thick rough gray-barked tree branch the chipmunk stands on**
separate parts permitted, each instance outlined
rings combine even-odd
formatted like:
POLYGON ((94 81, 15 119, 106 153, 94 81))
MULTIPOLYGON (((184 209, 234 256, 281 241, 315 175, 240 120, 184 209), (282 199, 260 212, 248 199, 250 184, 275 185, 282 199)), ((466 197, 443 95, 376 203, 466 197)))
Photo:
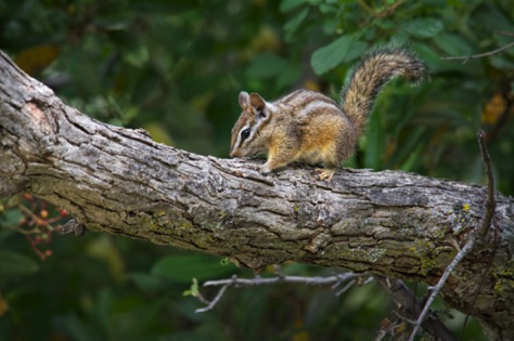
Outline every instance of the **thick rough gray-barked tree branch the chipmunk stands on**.
MULTIPOLYGON (((478 147, 477 147, 478 153, 478 147)), ((483 222, 487 188, 399 171, 200 156, 95 121, 0 53, 0 198, 27 192, 88 229, 228 257, 295 261, 434 285, 483 222)), ((514 339, 514 205, 496 193, 488 236, 442 289, 491 339, 514 339)))

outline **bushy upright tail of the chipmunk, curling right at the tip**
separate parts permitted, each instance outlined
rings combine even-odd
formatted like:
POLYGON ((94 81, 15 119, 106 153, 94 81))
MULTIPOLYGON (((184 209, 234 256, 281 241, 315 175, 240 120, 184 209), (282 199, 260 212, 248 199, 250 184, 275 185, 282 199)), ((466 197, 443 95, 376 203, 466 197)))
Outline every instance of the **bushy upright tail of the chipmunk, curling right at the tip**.
POLYGON ((343 113, 354 122, 357 136, 363 133, 382 87, 396 76, 417 82, 426 73, 425 64, 404 49, 380 49, 364 55, 343 89, 340 102, 343 113))

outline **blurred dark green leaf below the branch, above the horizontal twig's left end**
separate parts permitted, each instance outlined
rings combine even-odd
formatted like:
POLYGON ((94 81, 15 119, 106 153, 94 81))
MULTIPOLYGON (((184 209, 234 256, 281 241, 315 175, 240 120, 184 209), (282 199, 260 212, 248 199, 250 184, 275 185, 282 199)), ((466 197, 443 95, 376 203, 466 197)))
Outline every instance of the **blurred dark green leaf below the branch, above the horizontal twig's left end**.
POLYGON ((151 274, 179 283, 191 283, 192 278, 207 280, 234 272, 234 266, 223 266, 216 258, 203 254, 170 255, 158 260, 151 274))

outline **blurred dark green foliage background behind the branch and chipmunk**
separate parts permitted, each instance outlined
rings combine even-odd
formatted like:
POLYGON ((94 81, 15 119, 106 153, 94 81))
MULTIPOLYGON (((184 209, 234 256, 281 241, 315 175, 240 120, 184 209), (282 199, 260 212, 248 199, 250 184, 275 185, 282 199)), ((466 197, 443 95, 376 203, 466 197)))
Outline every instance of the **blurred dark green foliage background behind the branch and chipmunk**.
MULTIPOLYGON (((510 0, 0 1, 0 49, 65 103, 219 157, 228 157, 241 90, 273 100, 308 88, 338 100, 367 50, 408 45, 431 79, 384 89, 347 166, 484 184, 481 128, 505 195, 514 194, 514 48, 441 57, 513 40, 510 0)), ((292 285, 229 289, 213 311, 195 314, 202 304, 183 296, 193 277, 253 274, 128 238, 60 236, 65 215, 28 195, 0 201, 0 340, 373 340, 385 318, 397 318, 376 284, 337 298, 330 288, 292 285)), ((460 333, 464 316, 436 307, 460 333)), ((464 332, 472 339, 484 340, 474 320, 464 332)))

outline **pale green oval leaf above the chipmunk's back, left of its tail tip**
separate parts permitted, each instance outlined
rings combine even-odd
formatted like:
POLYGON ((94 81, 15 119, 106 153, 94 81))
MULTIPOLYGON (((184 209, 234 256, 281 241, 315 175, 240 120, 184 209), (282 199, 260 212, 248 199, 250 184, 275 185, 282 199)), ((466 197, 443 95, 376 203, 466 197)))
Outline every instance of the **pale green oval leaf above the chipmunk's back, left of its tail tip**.
MULTIPOLYGON (((358 36, 360 37, 360 34, 358 36)), ((317 75, 323 75, 340 63, 354 61, 367 49, 368 43, 357 41, 356 35, 346 35, 316 50, 310 64, 317 75)))

